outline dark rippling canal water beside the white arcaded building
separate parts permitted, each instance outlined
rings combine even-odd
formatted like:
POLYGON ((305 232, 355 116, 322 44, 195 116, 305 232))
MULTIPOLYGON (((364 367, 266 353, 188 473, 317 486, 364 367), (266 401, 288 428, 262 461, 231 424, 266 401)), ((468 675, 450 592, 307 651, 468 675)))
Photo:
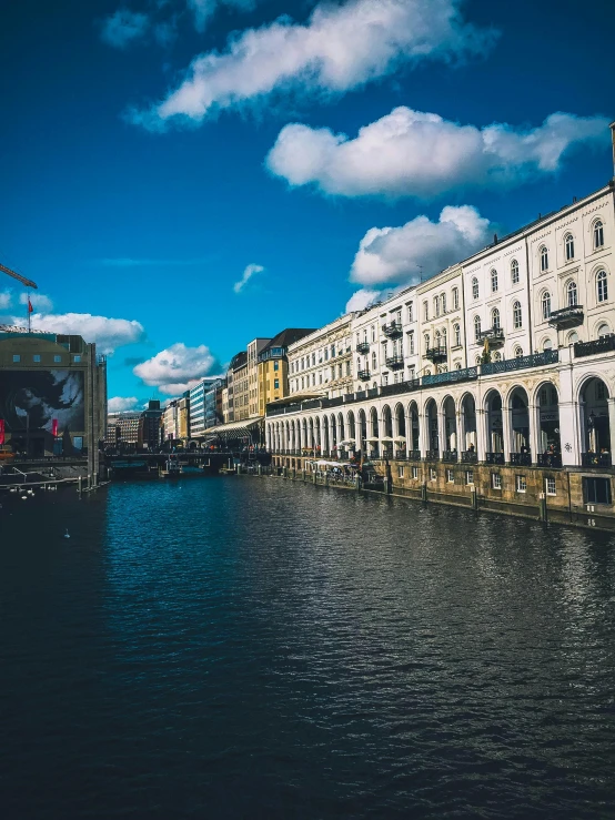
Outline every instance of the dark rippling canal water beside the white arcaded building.
POLYGON ((615 817, 612 537, 275 478, 0 500, 4 820, 615 817))

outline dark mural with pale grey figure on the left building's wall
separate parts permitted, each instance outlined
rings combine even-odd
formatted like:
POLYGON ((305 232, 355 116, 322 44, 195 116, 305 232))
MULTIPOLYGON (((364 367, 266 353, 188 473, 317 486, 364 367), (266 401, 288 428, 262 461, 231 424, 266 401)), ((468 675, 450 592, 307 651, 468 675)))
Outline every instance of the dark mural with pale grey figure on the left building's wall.
POLYGON ((4 371, 0 373, 0 418, 7 433, 85 428, 83 373, 4 371))

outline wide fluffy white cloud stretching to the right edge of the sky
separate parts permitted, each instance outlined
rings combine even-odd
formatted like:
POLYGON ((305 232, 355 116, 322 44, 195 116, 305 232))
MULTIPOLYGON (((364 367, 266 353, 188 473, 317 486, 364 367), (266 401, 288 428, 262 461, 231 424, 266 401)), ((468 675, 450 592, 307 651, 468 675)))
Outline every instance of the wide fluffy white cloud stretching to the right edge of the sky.
POLYGON ((558 170, 581 143, 607 143, 608 120, 555 113, 535 129, 478 129, 400 107, 354 139, 329 129, 285 125, 266 165, 291 185, 343 196, 430 199, 467 186, 520 184, 558 170))

